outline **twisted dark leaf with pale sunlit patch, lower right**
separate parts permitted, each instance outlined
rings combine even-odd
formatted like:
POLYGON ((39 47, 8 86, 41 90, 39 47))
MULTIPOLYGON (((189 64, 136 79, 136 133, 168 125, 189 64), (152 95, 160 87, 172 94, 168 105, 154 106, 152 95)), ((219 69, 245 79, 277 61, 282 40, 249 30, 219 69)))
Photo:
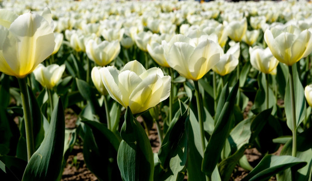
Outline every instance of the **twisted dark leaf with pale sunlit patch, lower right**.
POLYGON ((272 108, 265 110, 253 118, 240 122, 235 128, 232 129, 227 139, 230 142, 231 151, 235 153, 226 159, 223 159, 218 164, 222 180, 229 180, 233 169, 242 156, 244 156, 245 149, 250 143, 255 141, 256 137, 268 121, 268 117, 270 117, 271 112, 272 108))

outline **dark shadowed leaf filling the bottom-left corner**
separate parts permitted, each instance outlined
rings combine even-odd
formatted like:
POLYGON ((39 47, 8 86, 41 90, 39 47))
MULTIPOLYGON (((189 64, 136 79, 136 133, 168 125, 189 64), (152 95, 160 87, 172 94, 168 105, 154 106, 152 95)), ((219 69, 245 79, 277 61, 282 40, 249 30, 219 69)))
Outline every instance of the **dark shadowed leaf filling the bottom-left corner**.
POLYGON ((27 161, 14 156, 0 156, 1 180, 21 180, 27 161))

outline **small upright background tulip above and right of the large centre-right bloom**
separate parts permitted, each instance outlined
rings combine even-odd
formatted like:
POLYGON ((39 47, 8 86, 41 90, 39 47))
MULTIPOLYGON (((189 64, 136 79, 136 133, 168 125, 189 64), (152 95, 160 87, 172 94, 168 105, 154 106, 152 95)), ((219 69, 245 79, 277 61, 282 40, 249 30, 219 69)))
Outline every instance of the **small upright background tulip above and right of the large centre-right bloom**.
POLYGON ((247 31, 247 20, 244 18, 241 21, 231 21, 225 28, 230 39, 240 42, 247 31))

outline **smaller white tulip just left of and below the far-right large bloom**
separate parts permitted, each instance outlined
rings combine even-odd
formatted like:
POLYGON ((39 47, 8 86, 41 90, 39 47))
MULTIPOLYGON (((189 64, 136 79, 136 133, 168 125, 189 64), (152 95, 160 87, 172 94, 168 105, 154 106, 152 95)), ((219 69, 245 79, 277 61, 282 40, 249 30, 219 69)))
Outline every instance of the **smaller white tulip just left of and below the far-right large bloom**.
POLYGON ((276 67, 278 65, 277 59, 272 55, 269 47, 266 49, 260 48, 258 46, 249 47, 250 63, 251 65, 263 72, 276 74, 276 67))

